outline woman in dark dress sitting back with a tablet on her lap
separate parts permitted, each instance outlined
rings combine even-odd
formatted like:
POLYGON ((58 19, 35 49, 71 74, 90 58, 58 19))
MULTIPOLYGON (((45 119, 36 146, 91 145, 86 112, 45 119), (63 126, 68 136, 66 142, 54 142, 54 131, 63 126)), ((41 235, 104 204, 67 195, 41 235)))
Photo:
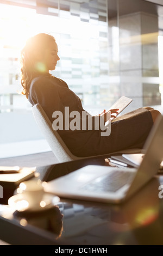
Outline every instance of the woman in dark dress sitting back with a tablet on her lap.
MULTIPOLYGON (((161 115, 153 108, 136 109, 111 121, 111 133, 105 126, 107 136, 102 136, 104 129, 101 125, 97 125, 97 118, 100 120, 103 118, 106 122, 108 114, 115 117, 118 109, 103 111, 97 117, 91 117, 66 82, 49 74, 50 70, 55 70, 60 59, 58 46, 52 35, 41 33, 30 38, 22 49, 21 59, 22 94, 26 95, 32 105, 39 103, 53 124, 58 118, 57 114, 62 113, 63 123, 59 125, 58 132, 76 156, 94 156, 123 149, 142 148, 154 121, 161 115), (79 113, 76 121, 80 119, 81 122, 78 123, 78 127, 69 126, 73 119, 72 116, 66 119, 67 109, 68 113, 79 113), (83 118, 83 113, 86 113, 86 119, 83 118), (83 126, 85 120, 89 121, 90 118, 95 121, 92 122, 91 129, 87 124, 86 127, 83 126)), ((56 123, 54 126, 56 128, 56 123)))

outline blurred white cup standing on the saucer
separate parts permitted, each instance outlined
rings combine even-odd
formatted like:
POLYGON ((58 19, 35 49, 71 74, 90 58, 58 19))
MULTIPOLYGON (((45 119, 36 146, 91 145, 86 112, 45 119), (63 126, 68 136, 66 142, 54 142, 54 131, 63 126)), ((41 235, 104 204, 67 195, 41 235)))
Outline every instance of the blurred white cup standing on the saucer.
POLYGON ((23 199, 27 200, 30 207, 40 205, 44 193, 43 185, 40 180, 24 181, 19 187, 23 194, 23 199))

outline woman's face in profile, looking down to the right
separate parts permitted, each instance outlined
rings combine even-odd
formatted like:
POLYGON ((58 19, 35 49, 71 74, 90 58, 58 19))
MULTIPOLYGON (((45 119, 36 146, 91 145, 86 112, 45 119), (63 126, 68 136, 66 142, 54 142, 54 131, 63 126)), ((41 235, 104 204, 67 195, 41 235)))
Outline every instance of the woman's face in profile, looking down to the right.
POLYGON ((45 50, 45 55, 43 58, 43 62, 46 66, 46 71, 54 70, 57 62, 59 60, 58 56, 58 46, 55 41, 51 41, 49 43, 48 49, 45 50))

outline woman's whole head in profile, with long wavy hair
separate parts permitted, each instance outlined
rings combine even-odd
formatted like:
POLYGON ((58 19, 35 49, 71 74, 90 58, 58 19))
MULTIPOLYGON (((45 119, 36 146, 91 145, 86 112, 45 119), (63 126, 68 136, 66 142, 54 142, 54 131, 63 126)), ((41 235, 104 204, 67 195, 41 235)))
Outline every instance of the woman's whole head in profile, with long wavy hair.
POLYGON ((28 39, 21 51, 22 94, 28 98, 32 79, 54 70, 58 60, 58 46, 52 35, 40 33, 28 39))

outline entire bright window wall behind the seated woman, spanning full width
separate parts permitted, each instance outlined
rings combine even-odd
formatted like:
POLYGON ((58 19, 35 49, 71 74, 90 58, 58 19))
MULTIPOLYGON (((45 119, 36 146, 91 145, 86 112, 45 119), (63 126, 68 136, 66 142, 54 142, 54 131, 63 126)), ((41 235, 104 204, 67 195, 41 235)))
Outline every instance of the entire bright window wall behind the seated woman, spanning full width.
POLYGON ((42 139, 20 83, 21 48, 40 32, 58 43, 60 61, 52 74, 90 113, 109 108, 121 95, 133 99, 126 111, 160 110, 162 20, 161 5, 143 0, 0 1, 0 147, 42 139))

